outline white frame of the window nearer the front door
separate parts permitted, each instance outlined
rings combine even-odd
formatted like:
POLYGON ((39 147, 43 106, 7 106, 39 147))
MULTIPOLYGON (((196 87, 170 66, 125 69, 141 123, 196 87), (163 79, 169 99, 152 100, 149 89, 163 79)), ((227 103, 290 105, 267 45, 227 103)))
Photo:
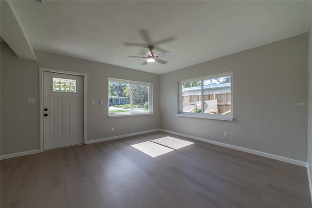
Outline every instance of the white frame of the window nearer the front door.
POLYGON ((108 77, 108 117, 124 117, 124 116, 137 116, 137 115, 153 115, 153 84, 152 83, 147 83, 147 82, 138 82, 138 81, 131 81, 131 80, 125 80, 125 79, 117 79, 117 78, 110 78, 108 77), (109 99, 110 97, 110 92, 109 92, 109 83, 110 82, 122 82, 122 83, 127 83, 130 84, 130 112, 125 112, 125 113, 109 113, 109 99), (132 85, 145 85, 149 86, 149 92, 148 92, 148 107, 149 111, 146 112, 133 112, 132 109, 132 85))

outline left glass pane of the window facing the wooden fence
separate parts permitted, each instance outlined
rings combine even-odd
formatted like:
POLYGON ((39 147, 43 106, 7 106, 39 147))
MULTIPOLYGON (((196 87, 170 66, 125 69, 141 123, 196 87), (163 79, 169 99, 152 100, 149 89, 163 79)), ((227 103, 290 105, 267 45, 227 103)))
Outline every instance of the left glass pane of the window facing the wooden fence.
POLYGON ((201 113, 201 81, 181 84, 182 113, 201 113))

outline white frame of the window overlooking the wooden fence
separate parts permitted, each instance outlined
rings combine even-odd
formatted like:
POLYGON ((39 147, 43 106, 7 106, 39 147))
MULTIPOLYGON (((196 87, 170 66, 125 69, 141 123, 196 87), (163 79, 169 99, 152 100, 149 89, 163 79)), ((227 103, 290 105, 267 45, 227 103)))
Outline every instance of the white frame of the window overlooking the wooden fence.
MULTIPOLYGON (((215 75, 209 75, 209 76, 201 76, 201 77, 196 77, 192 79, 184 79, 180 80, 178 82, 179 85, 179 104, 178 104, 178 113, 176 114, 177 116, 184 116, 184 117, 194 117, 194 118, 205 118, 205 119, 216 119, 216 120, 226 120, 226 121, 233 121, 233 72, 225 72, 225 73, 220 73, 220 74, 215 74, 215 75), (222 77, 222 76, 231 76, 231 115, 221 115, 221 114, 208 114, 208 113, 183 113, 182 112, 182 83, 188 83, 188 82, 195 82, 195 81, 203 81, 206 79, 213 79, 217 77, 222 77)), ((201 84, 201 102, 203 106, 203 84, 201 84)))

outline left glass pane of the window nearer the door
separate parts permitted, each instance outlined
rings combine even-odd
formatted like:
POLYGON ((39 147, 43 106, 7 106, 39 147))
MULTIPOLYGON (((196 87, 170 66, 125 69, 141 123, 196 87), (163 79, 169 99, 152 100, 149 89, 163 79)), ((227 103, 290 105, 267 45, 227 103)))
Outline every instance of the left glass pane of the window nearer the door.
POLYGON ((130 84, 109 82, 109 113, 130 113, 130 84))

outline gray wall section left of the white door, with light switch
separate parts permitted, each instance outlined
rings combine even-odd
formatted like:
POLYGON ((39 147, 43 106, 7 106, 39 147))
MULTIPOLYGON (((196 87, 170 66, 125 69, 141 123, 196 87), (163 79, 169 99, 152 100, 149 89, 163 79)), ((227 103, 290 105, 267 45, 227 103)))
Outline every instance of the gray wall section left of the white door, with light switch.
POLYGON ((38 63, 1 42, 1 155, 39 149, 38 63), (27 90, 26 90, 27 89, 27 90), (26 99, 35 98, 34 104, 26 99))

